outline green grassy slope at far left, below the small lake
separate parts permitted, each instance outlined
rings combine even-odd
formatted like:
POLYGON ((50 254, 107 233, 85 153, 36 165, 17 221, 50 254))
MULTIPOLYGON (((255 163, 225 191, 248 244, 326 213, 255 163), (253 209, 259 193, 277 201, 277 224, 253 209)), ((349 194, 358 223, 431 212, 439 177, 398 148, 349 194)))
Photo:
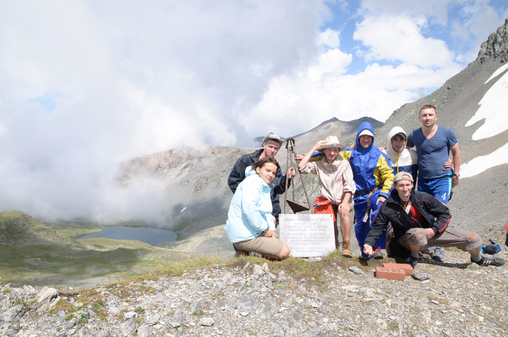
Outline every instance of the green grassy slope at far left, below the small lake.
POLYGON ((0 213, 0 277, 4 283, 96 285, 150 272, 179 255, 135 240, 92 238, 80 243, 23 212, 0 213))

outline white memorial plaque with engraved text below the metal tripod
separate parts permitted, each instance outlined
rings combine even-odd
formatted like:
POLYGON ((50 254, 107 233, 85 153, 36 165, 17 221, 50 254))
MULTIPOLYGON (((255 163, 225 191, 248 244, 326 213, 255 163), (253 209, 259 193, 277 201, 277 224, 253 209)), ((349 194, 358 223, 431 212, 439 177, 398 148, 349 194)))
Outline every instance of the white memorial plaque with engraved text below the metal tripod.
POLYGON ((291 256, 317 257, 335 249, 332 214, 281 214, 279 233, 291 256))

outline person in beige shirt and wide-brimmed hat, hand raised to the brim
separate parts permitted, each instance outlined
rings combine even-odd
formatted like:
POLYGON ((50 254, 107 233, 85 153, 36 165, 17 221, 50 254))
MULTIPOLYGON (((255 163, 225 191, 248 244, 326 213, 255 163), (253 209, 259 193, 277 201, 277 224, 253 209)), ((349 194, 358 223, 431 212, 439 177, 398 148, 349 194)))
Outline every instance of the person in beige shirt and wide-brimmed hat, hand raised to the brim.
MULTIPOLYGON (((343 148, 345 145, 340 144, 336 136, 328 136, 326 141, 317 142, 300 160, 298 166, 302 174, 312 173, 319 178, 319 189, 323 200, 317 200, 317 205, 319 205, 318 207, 323 207, 325 203, 332 205, 335 248, 339 249, 342 244, 342 255, 353 257, 350 248, 351 220, 349 214, 351 212, 350 198, 355 193, 356 187, 349 162, 338 155, 343 148), (324 158, 319 161, 309 161, 316 150, 324 153, 324 158), (337 222, 339 219, 342 242, 338 240, 337 222)), ((314 203, 314 205, 316 204, 314 203)))

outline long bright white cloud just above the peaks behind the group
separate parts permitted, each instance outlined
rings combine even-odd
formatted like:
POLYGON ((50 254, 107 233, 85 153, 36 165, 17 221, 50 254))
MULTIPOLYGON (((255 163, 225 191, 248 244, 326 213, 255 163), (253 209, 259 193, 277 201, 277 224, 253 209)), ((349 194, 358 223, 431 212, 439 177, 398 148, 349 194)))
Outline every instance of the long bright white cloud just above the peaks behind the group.
POLYGON ((331 117, 385 121, 401 105, 420 98, 421 87, 440 86, 460 71, 458 65, 432 70, 373 63, 364 72, 344 75, 352 57, 331 49, 309 68, 274 78, 261 103, 242 119, 244 127, 260 129, 276 116, 283 122, 274 125, 274 132, 291 136, 331 117))

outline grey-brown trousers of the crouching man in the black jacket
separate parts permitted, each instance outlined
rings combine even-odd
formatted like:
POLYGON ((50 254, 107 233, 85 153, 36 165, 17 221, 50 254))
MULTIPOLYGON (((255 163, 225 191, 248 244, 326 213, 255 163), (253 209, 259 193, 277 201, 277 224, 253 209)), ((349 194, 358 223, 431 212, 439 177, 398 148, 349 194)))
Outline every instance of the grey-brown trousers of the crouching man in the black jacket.
POLYGON ((411 228, 399 238, 399 244, 407 250, 411 250, 409 246, 436 246, 457 247, 468 252, 482 246, 482 239, 477 233, 448 226, 440 235, 429 240, 425 228, 411 228))

